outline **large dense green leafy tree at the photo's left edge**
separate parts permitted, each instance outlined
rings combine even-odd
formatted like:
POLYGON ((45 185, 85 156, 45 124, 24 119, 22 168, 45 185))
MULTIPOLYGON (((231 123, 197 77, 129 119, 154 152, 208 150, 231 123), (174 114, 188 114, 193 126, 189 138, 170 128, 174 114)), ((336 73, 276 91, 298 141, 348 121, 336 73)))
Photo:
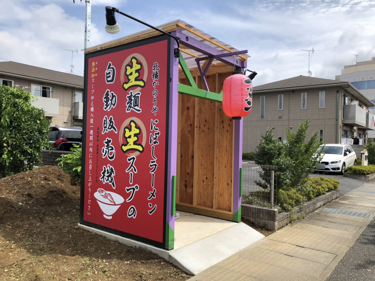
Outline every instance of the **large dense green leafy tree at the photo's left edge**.
POLYGON ((49 120, 31 101, 24 90, 0 86, 0 178, 39 165, 49 146, 49 120))

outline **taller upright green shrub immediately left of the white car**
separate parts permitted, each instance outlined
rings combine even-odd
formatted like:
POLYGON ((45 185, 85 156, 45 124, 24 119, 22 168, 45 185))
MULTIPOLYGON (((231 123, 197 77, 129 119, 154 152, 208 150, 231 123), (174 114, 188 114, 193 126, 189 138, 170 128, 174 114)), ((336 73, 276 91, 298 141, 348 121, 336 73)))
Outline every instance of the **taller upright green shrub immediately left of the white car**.
POLYGON ((286 154, 290 158, 290 184, 293 187, 304 185, 309 175, 314 172, 316 163, 321 160, 321 154, 317 153, 322 141, 318 139, 318 132, 312 134, 310 140, 307 138, 307 129, 311 120, 301 123, 297 132, 287 129, 286 154))

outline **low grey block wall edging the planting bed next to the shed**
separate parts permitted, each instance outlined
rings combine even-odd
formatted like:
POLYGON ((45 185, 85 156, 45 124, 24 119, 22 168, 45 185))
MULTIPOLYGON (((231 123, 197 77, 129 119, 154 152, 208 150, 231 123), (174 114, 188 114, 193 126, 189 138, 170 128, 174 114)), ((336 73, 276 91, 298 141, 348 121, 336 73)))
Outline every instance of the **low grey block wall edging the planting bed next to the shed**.
POLYGON ((250 221, 258 227, 264 227, 265 229, 278 230, 291 223, 291 221, 309 214, 324 204, 338 198, 339 193, 339 190, 329 191, 324 195, 309 200, 303 205, 294 207, 291 212, 282 212, 280 214, 277 209, 242 204, 242 220, 250 221))

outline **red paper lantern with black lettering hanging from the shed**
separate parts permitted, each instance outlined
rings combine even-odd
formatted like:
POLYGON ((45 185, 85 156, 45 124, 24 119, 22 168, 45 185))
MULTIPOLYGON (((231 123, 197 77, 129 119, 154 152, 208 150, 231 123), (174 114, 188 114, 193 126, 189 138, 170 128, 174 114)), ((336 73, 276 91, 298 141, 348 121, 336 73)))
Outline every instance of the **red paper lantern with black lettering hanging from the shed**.
POLYGON ((223 111, 226 116, 241 119, 251 111, 253 83, 248 76, 233 74, 224 80, 223 111))

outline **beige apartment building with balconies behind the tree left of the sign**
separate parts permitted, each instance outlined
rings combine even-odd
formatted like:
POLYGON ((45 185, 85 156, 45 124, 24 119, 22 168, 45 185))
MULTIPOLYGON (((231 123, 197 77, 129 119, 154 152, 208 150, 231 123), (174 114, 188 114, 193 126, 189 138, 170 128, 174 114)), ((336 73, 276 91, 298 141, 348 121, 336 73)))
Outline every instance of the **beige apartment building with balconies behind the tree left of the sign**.
POLYGON ((0 62, 0 85, 16 87, 36 97, 50 125, 82 127, 83 76, 14 61, 0 62))

